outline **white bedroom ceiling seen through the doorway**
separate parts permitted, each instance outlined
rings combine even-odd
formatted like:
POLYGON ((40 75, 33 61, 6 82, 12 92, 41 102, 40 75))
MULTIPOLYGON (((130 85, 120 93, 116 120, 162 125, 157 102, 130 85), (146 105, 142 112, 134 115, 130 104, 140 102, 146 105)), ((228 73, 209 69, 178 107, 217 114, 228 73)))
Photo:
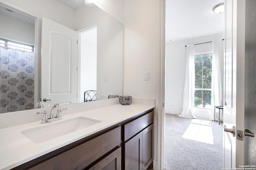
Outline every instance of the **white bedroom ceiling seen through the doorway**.
POLYGON ((166 0, 166 42, 224 32, 224 13, 212 8, 224 0, 166 0))

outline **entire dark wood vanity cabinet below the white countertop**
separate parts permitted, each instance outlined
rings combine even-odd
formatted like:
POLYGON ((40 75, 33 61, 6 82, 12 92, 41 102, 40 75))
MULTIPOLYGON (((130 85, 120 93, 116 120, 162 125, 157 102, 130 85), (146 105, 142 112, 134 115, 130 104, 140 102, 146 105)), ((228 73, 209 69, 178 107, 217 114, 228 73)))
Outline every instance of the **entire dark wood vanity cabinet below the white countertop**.
POLYGON ((13 169, 147 170, 153 161, 153 120, 150 109, 13 169))

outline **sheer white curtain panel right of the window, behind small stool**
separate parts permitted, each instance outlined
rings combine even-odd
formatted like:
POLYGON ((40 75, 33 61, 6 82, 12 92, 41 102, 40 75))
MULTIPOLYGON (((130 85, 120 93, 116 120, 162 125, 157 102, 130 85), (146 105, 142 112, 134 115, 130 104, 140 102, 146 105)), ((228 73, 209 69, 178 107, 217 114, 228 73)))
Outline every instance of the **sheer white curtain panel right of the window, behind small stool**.
MULTIPOLYGON (((212 109, 210 120, 214 120, 214 106, 223 106, 224 59, 221 39, 212 41, 212 109)), ((222 113, 223 109, 220 110, 222 113)), ((215 109, 215 121, 219 120, 219 109, 215 109)), ((222 119, 220 115, 220 120, 222 119)))

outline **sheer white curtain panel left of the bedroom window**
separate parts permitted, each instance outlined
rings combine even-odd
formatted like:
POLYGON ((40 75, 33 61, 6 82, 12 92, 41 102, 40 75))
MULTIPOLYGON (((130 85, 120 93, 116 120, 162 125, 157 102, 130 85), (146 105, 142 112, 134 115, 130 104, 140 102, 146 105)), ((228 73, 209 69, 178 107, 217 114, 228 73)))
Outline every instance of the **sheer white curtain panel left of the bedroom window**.
POLYGON ((186 77, 183 92, 183 109, 179 117, 196 118, 194 115, 195 64, 194 45, 186 47, 186 77))

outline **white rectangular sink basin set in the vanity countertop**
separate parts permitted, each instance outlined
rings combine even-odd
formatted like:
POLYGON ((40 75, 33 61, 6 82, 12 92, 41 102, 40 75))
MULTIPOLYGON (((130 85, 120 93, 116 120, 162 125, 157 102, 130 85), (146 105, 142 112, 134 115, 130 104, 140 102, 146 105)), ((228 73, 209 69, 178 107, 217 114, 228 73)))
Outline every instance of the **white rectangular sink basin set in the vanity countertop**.
POLYGON ((66 121, 46 123, 44 126, 26 129, 20 133, 34 143, 42 143, 100 122, 87 117, 76 117, 66 121))

